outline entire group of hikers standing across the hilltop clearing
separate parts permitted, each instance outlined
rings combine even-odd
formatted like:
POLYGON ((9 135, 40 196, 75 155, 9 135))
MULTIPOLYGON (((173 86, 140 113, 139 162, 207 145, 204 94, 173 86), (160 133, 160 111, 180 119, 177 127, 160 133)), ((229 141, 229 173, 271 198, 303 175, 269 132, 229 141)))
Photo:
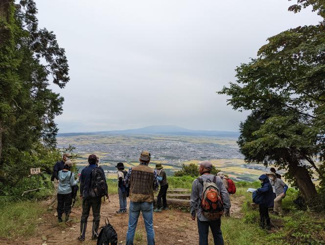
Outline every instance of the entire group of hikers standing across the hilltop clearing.
MULTIPOLYGON (((105 174, 102 168, 98 167, 98 157, 94 154, 89 155, 89 165, 85 167, 80 177, 74 180, 74 174, 70 171, 72 162, 70 153, 64 153, 61 161, 57 162, 53 168, 52 180, 57 190, 57 195, 53 197, 49 209, 53 209, 55 200, 58 200, 57 213, 58 221, 69 221, 71 211, 71 193, 72 186, 80 182, 80 200, 82 201, 82 216, 80 219, 80 235, 78 240, 85 241, 87 220, 90 209, 93 210, 93 229, 92 240, 98 238, 98 228, 100 221, 100 207, 102 196, 108 198, 108 188, 105 174), (97 196, 93 193, 92 177, 93 172, 97 174, 97 179, 103 178, 103 191, 97 196), (105 187, 106 186, 106 187, 105 187)), ((128 230, 126 234, 126 244, 133 245, 133 240, 137 228, 140 212, 144 220, 144 226, 147 233, 147 244, 155 244, 155 233, 153 229, 153 212, 162 212, 167 210, 166 193, 168 182, 166 173, 161 164, 156 164, 156 168, 148 167, 151 155, 149 151, 142 151, 139 157, 139 165, 125 170, 123 163, 118 163, 118 214, 127 213, 127 197, 130 198, 128 230), (157 197, 157 207, 154 209, 154 192, 160 191, 157 197), (162 204, 163 199, 163 204, 162 204)), ((223 236, 221 232, 221 216, 230 216, 230 192, 228 190, 227 176, 219 172, 217 175, 211 174, 212 164, 210 161, 200 163, 200 176, 193 181, 190 195, 190 214, 193 221, 197 220, 199 232, 199 244, 208 245, 209 228, 211 229, 214 244, 223 245, 223 236), (215 190, 214 190, 215 189, 215 190), (210 196, 209 196, 210 195, 210 196), (208 201, 205 202, 204 201, 208 201), (210 205, 209 205, 210 204, 210 205), (219 205, 221 204, 221 205, 219 205), (209 208, 203 205, 209 205, 209 208), (218 210, 218 208, 222 210, 218 210), (217 211, 215 211, 217 210, 217 211), (213 211, 211 213, 211 211, 213 211)), ((261 226, 270 227, 270 218, 268 208, 274 207, 274 212, 282 215, 281 200, 285 197, 287 185, 280 179, 281 176, 271 172, 262 174, 259 179, 262 187, 257 189, 256 193, 259 200, 259 212, 261 226), (274 197, 274 193, 276 198, 274 197), (273 204, 271 204, 271 202, 273 204)), ((100 188, 99 188, 100 189, 100 188)))

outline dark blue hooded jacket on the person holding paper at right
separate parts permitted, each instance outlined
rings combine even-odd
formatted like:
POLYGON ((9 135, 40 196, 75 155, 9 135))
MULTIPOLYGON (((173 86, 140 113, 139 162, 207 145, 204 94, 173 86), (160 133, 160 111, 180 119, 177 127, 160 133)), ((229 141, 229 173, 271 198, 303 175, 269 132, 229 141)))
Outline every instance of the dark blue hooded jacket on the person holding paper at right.
POLYGON ((254 202, 271 208, 274 206, 274 194, 270 180, 266 174, 262 174, 258 179, 263 180, 263 183, 261 183, 262 187, 258 188, 254 195, 254 202))

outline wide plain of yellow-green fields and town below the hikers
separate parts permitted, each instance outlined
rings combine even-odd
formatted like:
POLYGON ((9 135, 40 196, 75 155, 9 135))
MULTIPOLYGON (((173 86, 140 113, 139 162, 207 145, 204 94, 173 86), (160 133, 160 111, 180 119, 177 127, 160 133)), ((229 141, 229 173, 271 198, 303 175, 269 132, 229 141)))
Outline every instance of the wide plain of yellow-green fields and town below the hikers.
POLYGON ((141 150, 151 153, 150 167, 161 163, 167 175, 180 170, 182 164, 199 164, 210 160, 217 169, 237 180, 255 181, 267 169, 261 165, 247 165, 238 151, 235 138, 185 135, 111 135, 94 133, 57 137, 58 147, 74 146, 79 158, 79 171, 88 165, 89 154, 100 158, 99 165, 116 178, 116 164, 123 162, 126 169, 139 163, 141 150))

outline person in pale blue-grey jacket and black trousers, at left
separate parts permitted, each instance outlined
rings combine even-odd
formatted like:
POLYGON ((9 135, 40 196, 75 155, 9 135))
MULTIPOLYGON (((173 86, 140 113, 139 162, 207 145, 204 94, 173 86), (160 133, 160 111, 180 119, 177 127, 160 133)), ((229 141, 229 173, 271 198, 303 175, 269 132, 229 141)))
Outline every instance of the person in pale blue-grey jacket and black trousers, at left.
POLYGON ((72 188, 78 183, 78 179, 74 180, 73 172, 70 172, 72 161, 68 160, 64 163, 63 170, 59 171, 59 187, 58 187, 58 221, 62 222, 63 212, 65 213, 65 222, 69 221, 72 204, 72 188))

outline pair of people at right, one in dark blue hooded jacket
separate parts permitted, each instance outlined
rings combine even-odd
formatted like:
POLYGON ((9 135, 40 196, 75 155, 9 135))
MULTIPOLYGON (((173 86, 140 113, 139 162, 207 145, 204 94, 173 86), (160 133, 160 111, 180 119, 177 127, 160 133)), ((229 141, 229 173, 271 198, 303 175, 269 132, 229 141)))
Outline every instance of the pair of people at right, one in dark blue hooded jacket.
POLYGON ((259 177, 261 187, 253 193, 253 201, 258 204, 260 227, 271 229, 269 208, 273 214, 283 217, 282 199, 285 197, 288 186, 281 179, 281 175, 274 168, 259 177))

